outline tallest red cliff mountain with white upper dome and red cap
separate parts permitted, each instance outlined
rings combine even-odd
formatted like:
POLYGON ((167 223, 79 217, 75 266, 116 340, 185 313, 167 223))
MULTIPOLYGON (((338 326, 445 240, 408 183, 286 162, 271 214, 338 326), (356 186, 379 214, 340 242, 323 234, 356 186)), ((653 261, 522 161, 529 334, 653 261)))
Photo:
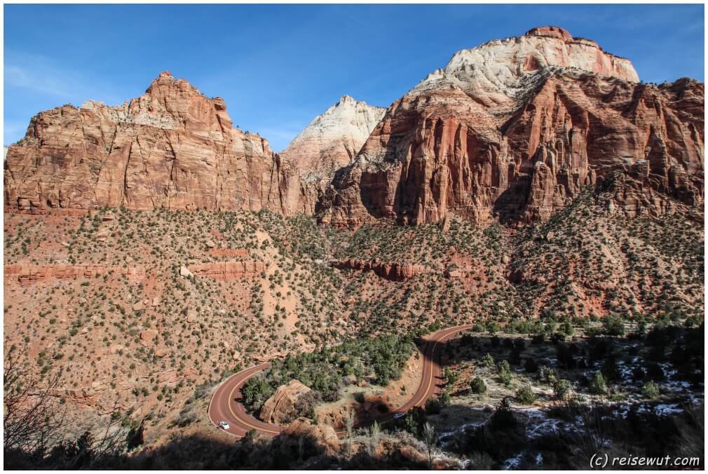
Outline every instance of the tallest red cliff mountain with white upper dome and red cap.
POLYGON ((703 84, 634 79, 627 60, 559 28, 459 52, 387 110, 321 220, 532 222, 617 176, 613 205, 628 215, 700 205, 703 84))

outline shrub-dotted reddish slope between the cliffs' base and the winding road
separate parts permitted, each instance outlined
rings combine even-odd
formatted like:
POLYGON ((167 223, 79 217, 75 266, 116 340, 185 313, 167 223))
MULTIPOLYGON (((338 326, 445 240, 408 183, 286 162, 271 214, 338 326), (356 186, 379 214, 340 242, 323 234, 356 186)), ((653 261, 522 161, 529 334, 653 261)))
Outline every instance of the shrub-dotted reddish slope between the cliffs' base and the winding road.
POLYGON ((149 415, 152 438, 199 385, 348 339, 433 322, 702 319, 702 213, 625 218, 607 192, 586 190, 520 230, 462 218, 346 231, 266 212, 9 214, 5 352, 61 374, 52 395, 86 414, 77 425, 115 405, 149 415), (401 265, 396 278, 389 264, 401 265))

